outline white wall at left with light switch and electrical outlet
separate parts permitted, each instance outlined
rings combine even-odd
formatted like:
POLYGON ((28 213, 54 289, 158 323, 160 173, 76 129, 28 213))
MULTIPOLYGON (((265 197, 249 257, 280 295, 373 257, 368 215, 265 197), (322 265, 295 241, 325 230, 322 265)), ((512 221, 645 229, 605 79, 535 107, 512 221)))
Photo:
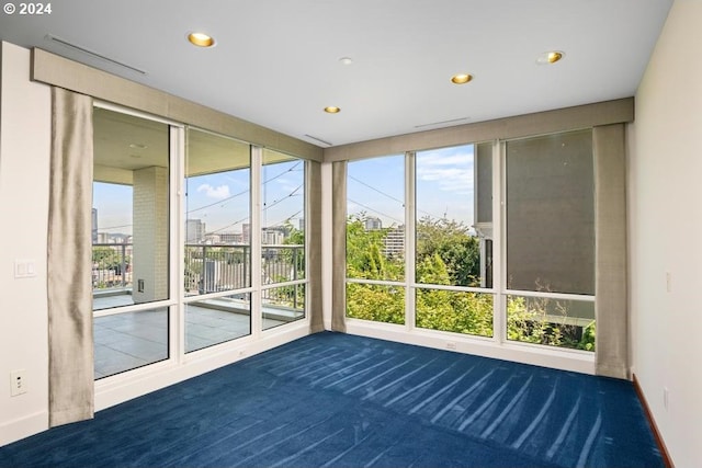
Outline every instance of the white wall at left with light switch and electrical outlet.
POLYGON ((30 52, 2 43, 0 104, 0 445, 48 426, 46 229, 50 91, 32 83, 30 52), (14 261, 36 276, 15 279, 14 261), (27 392, 10 397, 10 373, 27 392))

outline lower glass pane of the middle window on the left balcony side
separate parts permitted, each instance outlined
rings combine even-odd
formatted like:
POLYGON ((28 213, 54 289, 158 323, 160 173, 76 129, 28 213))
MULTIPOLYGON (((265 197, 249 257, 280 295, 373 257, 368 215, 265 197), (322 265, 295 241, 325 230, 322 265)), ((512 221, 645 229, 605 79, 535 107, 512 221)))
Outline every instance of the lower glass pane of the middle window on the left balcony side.
POLYGON ((185 304, 186 353, 248 334, 251 334, 250 294, 185 304))

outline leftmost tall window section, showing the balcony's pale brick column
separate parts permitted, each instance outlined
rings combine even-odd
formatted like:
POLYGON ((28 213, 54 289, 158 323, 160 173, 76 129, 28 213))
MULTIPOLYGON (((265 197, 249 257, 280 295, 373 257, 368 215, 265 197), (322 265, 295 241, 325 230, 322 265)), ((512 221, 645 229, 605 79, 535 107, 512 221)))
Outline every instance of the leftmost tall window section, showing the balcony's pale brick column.
POLYGON ((169 357, 167 124, 97 107, 93 158, 95 378, 169 357))

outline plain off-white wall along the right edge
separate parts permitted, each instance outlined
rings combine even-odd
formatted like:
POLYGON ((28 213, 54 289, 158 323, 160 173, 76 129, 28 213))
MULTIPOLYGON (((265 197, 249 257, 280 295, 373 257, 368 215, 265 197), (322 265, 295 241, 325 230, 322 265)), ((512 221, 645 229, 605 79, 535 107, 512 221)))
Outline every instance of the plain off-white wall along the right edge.
POLYGON ((638 88, 630 134, 633 370, 679 467, 702 466, 700 25, 702 2, 677 0, 638 88))

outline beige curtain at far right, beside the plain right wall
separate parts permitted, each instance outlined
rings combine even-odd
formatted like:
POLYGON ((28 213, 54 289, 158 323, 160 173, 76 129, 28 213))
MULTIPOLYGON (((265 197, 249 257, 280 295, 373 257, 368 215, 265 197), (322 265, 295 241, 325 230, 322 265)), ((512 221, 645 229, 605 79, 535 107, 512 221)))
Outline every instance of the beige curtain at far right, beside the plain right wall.
POLYGON ((629 377, 624 125, 592 130, 595 156, 596 373, 629 377))

